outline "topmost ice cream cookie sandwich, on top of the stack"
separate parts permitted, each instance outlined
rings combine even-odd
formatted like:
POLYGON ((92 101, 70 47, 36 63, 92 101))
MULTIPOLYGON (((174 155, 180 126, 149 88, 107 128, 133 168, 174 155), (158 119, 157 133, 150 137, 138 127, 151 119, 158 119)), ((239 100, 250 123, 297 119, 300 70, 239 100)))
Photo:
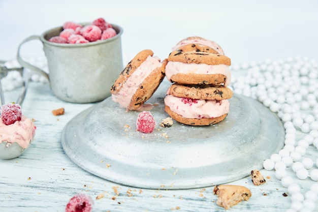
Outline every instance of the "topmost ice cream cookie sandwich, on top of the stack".
POLYGON ((198 36, 181 40, 172 51, 203 51, 224 55, 223 49, 217 43, 198 36))

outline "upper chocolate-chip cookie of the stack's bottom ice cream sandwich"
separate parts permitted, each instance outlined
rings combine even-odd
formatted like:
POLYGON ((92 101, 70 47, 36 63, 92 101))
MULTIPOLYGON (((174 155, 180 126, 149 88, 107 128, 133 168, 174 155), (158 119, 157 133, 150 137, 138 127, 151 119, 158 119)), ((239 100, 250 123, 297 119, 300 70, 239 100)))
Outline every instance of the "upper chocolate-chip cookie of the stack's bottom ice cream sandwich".
POLYGON ((222 100, 230 99, 233 92, 230 88, 223 85, 182 85, 172 84, 167 93, 182 98, 222 100))

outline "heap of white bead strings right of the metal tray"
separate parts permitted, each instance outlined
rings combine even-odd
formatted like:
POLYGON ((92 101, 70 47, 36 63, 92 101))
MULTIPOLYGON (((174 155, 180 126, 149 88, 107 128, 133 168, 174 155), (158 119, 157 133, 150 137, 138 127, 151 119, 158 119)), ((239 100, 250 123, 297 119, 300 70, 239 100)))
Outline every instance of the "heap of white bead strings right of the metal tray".
MULTIPOLYGON (((318 199, 318 158, 307 157, 310 146, 318 149, 318 65, 306 57, 236 65, 246 76, 232 80, 236 94, 252 97, 276 113, 285 129, 284 146, 263 163, 264 169, 275 170, 275 177, 287 188, 291 205, 287 212, 313 211, 318 199), (246 87, 248 85, 249 87, 246 87), (302 137, 299 139, 298 137, 302 137), (315 166, 314 166, 315 165, 315 166), (315 168, 317 167, 317 168, 315 168), (287 169, 300 180, 312 180, 305 194, 287 169)), ((311 147, 310 147, 311 148, 311 147)))

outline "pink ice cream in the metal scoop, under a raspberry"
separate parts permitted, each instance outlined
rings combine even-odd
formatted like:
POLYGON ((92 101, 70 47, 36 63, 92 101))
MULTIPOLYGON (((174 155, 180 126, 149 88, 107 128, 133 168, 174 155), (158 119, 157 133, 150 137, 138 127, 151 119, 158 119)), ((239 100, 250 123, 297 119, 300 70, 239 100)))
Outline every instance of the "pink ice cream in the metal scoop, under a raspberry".
POLYGON ((20 121, 12 125, 5 125, 0 119, 0 143, 17 143, 22 148, 27 148, 35 136, 36 126, 31 119, 22 115, 20 121))

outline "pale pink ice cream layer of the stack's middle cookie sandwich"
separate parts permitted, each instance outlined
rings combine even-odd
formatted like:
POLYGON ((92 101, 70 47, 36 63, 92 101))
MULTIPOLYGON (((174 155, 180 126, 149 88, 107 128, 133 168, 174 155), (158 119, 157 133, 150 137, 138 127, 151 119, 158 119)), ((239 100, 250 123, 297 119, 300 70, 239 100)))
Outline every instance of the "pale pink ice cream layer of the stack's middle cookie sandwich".
POLYGON ((176 74, 222 74, 227 77, 224 86, 228 86, 231 82, 230 67, 224 64, 207 65, 207 64, 185 64, 181 62, 169 61, 166 65, 166 77, 171 82, 171 76, 176 74))

